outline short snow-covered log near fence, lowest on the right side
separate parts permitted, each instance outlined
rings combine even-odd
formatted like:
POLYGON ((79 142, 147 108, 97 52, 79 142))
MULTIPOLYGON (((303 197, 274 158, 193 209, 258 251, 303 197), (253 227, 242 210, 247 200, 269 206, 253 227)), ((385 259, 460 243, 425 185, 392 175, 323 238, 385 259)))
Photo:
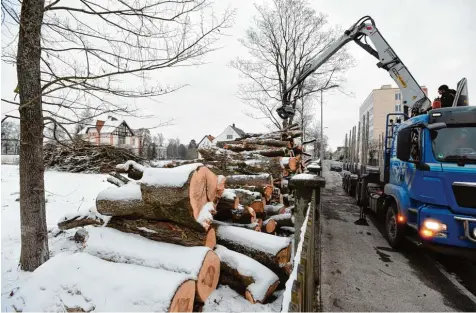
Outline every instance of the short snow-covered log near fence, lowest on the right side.
POLYGON ((241 253, 218 245, 220 283, 229 285, 251 303, 265 303, 279 285, 278 276, 266 266, 241 253))

